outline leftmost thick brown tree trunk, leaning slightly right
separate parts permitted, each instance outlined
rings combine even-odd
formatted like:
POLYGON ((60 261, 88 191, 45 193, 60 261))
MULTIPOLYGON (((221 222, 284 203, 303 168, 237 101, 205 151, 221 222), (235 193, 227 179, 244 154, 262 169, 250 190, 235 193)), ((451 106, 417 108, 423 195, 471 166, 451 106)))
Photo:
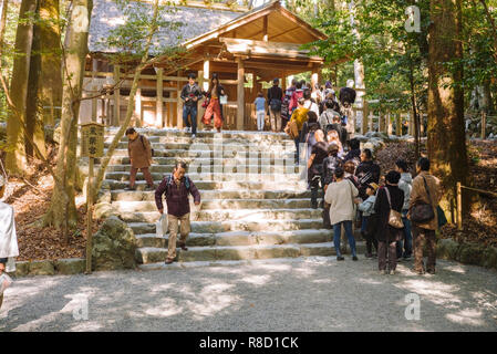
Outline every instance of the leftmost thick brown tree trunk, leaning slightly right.
MULTIPOLYGON (((37 11, 37 0, 23 0, 19 11, 19 19, 27 19, 27 12, 37 11)), ((31 44, 33 39, 33 24, 29 21, 19 23, 15 33, 15 55, 12 69, 10 95, 21 122, 27 122, 25 105, 28 97, 28 80, 31 61, 31 44)), ((12 175, 25 175, 28 162, 25 158, 24 135, 21 123, 12 110, 9 110, 7 118, 7 142, 13 149, 7 153, 6 168, 12 175)))

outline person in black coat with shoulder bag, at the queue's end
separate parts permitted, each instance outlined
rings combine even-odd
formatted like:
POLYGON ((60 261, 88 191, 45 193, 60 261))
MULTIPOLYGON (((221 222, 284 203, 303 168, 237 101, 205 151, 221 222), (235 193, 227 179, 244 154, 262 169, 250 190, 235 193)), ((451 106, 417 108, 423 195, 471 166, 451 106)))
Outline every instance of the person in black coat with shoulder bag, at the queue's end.
POLYGON ((395 274, 397 267, 396 242, 402 238, 403 229, 396 229, 389 225, 390 209, 402 211, 404 192, 398 188, 401 174, 391 170, 385 176, 386 186, 377 190, 374 212, 377 215, 377 266, 380 273, 386 273, 386 257, 389 258, 389 273, 395 274), (390 202, 389 202, 390 194, 390 202), (389 250, 389 251, 387 251, 389 250), (386 254, 389 253, 389 254, 386 254))

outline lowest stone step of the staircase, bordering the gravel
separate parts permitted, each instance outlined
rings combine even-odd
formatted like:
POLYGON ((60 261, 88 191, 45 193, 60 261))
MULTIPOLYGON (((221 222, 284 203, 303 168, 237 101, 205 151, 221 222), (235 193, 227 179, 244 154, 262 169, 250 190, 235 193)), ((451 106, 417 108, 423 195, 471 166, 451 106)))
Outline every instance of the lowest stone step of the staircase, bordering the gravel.
MULTIPOLYGON (((358 254, 364 252, 363 242, 356 242, 358 254)), ((350 248, 348 247, 350 252, 350 248)), ((188 251, 177 249, 176 260, 179 262, 218 261, 218 260, 248 260, 272 258, 297 258, 312 256, 335 256, 333 242, 320 243, 286 243, 277 246, 210 246, 189 247, 188 251)), ((164 262, 167 249, 139 248, 136 250, 136 260, 142 264, 164 262)))

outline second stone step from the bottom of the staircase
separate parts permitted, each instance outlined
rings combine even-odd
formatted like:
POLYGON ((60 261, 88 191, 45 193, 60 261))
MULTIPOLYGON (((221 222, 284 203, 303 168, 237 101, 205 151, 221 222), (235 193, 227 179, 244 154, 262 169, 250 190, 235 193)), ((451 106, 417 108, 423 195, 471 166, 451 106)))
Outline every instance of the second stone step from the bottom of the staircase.
MULTIPOLYGON (((155 233, 137 235, 138 248, 167 248, 169 236, 156 237, 155 233)), ((200 246, 251 246, 251 244, 282 244, 282 243, 319 243, 330 242, 333 231, 320 230, 294 230, 294 231, 229 231, 218 233, 194 233, 186 239, 188 247, 200 246)))

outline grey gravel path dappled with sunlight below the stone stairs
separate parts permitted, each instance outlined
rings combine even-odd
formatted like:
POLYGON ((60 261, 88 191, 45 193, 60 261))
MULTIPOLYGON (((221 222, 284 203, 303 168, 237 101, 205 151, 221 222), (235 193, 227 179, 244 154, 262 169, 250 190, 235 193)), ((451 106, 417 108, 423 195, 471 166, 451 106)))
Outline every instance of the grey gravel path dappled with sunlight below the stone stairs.
POLYGON ((497 331, 497 272, 479 267, 438 261, 437 274, 420 277, 412 262, 380 275, 363 258, 199 266, 19 279, 0 332, 497 331), (405 317, 410 293, 420 320, 405 317), (87 320, 76 311, 85 302, 87 320))

